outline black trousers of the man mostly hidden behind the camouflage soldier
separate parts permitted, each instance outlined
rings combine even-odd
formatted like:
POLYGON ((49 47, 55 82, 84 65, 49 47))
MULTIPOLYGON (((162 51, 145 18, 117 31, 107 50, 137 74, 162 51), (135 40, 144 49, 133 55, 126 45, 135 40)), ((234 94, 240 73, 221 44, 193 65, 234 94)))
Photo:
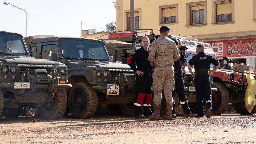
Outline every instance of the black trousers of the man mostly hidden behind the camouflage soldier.
MULTIPOLYGON (((179 101, 183 108, 184 114, 191 114, 190 108, 188 106, 187 93, 184 85, 183 76, 181 75, 181 69, 174 70, 174 79, 175 79, 175 90, 176 90, 176 93, 178 94, 179 101)), ((175 103, 174 103, 174 99, 175 99, 174 91, 172 91, 172 97, 173 97, 172 114, 175 114, 176 110, 175 110, 175 103)))

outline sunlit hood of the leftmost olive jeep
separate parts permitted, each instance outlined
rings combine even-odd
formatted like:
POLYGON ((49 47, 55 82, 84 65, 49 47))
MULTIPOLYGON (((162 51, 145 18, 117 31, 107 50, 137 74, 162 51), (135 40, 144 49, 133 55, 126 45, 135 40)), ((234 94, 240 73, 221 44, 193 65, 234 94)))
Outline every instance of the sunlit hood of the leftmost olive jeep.
POLYGON ((59 62, 49 61, 45 59, 35 59, 33 57, 15 56, 15 57, 2 57, 0 61, 5 63, 17 63, 17 64, 38 64, 38 65, 60 65, 59 62))

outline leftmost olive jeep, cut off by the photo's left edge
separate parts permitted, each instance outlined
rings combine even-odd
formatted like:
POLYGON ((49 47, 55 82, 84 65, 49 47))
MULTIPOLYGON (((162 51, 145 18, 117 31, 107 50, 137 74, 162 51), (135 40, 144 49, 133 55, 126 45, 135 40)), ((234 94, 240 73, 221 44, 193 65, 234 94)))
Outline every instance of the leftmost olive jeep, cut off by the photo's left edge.
POLYGON ((67 67, 30 55, 22 35, 0 31, 0 114, 18 117, 29 106, 45 119, 58 119, 67 106, 64 88, 71 88, 67 67))

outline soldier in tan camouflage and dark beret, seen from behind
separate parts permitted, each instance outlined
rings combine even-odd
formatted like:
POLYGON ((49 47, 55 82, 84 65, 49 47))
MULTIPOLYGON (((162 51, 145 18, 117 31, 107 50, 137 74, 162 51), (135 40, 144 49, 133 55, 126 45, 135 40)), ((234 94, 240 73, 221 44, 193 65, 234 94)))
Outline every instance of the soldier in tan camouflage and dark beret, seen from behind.
POLYGON ((160 28, 161 37, 154 40, 151 45, 148 60, 155 60, 155 69, 153 71, 153 91, 154 91, 154 113, 148 119, 160 119, 160 106, 162 99, 162 89, 165 92, 166 114, 163 120, 172 119, 172 91, 174 90, 174 61, 179 59, 179 50, 175 42, 168 38, 169 28, 162 26, 160 28))

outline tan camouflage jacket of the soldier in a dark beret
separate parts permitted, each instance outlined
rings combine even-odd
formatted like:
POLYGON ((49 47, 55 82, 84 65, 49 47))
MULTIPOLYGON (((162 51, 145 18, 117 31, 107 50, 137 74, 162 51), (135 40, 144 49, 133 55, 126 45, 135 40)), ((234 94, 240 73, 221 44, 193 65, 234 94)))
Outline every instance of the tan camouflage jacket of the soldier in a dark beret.
POLYGON ((175 42, 168 37, 161 36, 153 41, 148 60, 155 60, 155 69, 174 71, 174 61, 179 59, 179 50, 175 42))

